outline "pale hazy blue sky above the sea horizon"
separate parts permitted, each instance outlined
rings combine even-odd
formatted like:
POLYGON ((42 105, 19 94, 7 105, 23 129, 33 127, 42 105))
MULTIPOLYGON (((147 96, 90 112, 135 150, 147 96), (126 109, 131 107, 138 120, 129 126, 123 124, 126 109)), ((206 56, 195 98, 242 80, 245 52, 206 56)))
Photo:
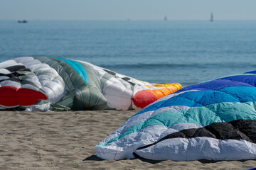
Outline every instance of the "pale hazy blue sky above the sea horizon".
POLYGON ((0 0, 0 20, 256 20, 256 0, 0 0))

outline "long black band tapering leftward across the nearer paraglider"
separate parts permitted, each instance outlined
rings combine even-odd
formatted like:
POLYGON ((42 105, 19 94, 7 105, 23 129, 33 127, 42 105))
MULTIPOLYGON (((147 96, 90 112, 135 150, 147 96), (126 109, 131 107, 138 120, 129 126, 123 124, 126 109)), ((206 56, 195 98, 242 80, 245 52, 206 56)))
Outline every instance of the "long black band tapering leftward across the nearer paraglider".
POLYGON ((212 137, 218 140, 247 140, 256 143, 256 120, 234 120, 229 123, 213 123, 203 128, 193 128, 174 132, 161 140, 138 149, 156 145, 163 140, 182 137, 212 137))

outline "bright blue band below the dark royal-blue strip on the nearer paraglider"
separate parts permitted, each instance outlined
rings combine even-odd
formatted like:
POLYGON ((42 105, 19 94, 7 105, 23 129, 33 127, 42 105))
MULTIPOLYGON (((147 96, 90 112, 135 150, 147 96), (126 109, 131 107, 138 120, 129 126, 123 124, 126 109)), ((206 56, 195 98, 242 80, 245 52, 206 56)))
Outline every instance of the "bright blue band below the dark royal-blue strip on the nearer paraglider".
POLYGON ((146 111, 154 111, 167 106, 188 106, 200 107, 214 103, 256 101, 256 88, 251 86, 233 86, 220 89, 218 91, 188 91, 178 96, 169 98, 166 101, 159 101, 145 108, 136 115, 146 111))

